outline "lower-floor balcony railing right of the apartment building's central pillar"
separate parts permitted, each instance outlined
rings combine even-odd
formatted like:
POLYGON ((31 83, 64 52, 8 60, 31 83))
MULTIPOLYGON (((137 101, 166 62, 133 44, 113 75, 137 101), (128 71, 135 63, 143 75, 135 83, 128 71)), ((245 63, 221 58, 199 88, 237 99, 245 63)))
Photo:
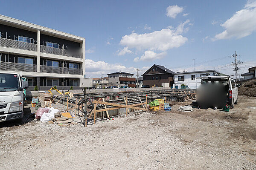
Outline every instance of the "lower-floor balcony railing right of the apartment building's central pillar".
POLYGON ((83 69, 72 69, 72 68, 66 68, 66 67, 54 67, 54 66, 42 66, 42 65, 40 65, 40 72, 83 75, 83 69))

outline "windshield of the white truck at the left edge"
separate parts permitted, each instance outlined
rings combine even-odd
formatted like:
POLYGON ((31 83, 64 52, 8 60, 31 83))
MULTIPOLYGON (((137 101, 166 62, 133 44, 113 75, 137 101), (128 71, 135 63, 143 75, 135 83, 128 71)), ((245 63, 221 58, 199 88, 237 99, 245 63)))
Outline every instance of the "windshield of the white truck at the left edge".
POLYGON ((0 73, 0 91, 15 91, 19 87, 19 80, 16 74, 0 73))

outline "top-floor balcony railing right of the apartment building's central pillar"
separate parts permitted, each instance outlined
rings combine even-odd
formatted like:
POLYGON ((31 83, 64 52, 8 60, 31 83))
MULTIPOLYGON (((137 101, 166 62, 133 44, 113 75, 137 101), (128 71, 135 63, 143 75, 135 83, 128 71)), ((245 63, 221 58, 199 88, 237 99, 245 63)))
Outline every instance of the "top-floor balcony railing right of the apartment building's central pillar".
POLYGON ((68 57, 75 57, 75 58, 83 58, 81 54, 75 53, 73 51, 68 51, 66 49, 58 49, 49 46, 40 46, 40 51, 48 54, 55 54, 55 55, 64 55, 68 57))

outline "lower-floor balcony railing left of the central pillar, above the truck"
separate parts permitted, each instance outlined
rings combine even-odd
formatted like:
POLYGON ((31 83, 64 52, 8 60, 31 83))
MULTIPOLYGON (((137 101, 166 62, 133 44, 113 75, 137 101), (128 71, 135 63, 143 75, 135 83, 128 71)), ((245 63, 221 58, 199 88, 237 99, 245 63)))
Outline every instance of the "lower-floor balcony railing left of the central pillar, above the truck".
POLYGON ((0 70, 15 71, 15 72, 37 72, 37 65, 0 62, 0 70))

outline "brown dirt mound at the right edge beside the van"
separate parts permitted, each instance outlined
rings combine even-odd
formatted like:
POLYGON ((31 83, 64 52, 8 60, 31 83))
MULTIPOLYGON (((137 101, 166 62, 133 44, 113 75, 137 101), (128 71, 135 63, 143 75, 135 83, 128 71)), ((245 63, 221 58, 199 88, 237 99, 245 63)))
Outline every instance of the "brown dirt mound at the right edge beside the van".
POLYGON ((239 95, 247 95, 247 96, 251 96, 251 97, 256 97, 256 79, 244 82, 238 88, 238 94, 239 95))

